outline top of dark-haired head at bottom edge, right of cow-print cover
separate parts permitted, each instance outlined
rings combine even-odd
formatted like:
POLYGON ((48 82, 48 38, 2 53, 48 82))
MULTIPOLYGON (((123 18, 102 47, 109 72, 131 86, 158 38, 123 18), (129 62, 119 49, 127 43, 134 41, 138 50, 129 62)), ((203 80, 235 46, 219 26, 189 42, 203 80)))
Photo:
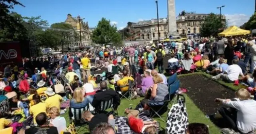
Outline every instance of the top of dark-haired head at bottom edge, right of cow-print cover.
POLYGON ((186 129, 186 134, 209 134, 209 129, 202 123, 190 123, 186 129))

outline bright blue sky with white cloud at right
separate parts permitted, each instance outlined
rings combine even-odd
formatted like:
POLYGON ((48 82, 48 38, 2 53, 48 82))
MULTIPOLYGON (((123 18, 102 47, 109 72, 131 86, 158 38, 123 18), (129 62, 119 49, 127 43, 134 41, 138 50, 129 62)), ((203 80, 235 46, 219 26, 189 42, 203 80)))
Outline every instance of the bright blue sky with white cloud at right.
MULTIPOLYGON (((106 17, 120 29, 128 21, 138 22, 156 18, 155 0, 18 0, 24 6, 14 11, 22 16, 41 16, 49 24, 65 21, 67 14, 80 15, 89 27, 96 27, 106 17)), ((228 25, 242 25, 254 13, 255 0, 175 0, 176 15, 182 10, 196 13, 219 13, 218 6, 225 5, 222 14, 228 25)), ((167 17, 167 0, 158 0, 159 17, 167 17)))

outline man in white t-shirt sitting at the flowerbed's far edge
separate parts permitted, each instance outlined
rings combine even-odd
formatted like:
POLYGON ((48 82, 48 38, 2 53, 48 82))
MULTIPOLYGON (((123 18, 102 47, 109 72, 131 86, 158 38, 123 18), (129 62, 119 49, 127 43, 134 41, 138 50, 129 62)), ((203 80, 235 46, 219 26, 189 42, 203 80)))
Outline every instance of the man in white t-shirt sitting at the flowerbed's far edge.
POLYGON ((232 60, 232 65, 228 66, 228 68, 224 73, 213 76, 212 79, 214 80, 222 79, 226 82, 234 82, 238 80, 239 76, 242 76, 243 78, 244 74, 240 66, 237 65, 237 63, 238 63, 237 59, 232 60))

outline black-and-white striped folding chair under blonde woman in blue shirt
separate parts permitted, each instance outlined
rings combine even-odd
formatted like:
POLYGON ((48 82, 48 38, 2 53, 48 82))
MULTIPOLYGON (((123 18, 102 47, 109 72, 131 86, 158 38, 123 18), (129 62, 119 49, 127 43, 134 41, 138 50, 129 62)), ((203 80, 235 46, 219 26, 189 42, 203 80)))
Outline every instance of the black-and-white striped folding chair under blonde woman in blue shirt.
POLYGON ((70 118, 70 124, 74 123, 75 127, 79 129, 81 127, 88 129, 85 126, 88 124, 88 122, 84 121, 84 119, 82 118, 82 114, 84 113, 84 111, 88 111, 88 110, 89 110, 89 105, 79 109, 74 109, 72 107, 69 107, 68 116, 70 118))

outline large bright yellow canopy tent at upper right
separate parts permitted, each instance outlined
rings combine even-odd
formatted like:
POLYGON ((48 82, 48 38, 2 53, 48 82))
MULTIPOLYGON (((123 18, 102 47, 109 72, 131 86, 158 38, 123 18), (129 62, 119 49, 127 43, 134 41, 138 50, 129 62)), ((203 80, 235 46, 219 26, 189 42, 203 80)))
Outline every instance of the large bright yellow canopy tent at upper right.
POLYGON ((245 34, 250 34, 251 31, 249 30, 244 30, 244 29, 240 29, 239 27, 236 26, 231 26, 228 27, 226 30, 224 30, 223 32, 219 33, 219 36, 235 36, 235 35, 245 35, 245 34))

